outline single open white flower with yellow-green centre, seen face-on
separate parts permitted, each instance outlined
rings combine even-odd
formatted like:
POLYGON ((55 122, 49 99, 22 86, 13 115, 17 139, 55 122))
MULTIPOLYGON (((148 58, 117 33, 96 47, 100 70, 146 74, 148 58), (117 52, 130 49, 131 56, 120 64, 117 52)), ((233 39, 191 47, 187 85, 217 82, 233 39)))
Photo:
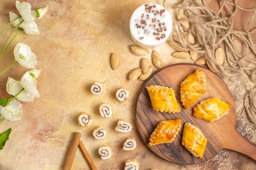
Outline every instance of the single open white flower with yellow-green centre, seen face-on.
POLYGON ((31 52, 27 44, 18 43, 14 48, 15 60, 23 67, 35 68, 37 63, 36 54, 31 52))

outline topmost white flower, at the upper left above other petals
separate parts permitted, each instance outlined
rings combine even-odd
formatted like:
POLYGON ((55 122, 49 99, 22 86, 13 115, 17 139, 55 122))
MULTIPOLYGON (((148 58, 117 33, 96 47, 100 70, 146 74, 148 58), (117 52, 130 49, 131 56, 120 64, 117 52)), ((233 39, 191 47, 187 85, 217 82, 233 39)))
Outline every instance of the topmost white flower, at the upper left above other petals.
POLYGON ((36 18, 31 14, 31 4, 16 0, 16 8, 25 22, 34 22, 36 18))

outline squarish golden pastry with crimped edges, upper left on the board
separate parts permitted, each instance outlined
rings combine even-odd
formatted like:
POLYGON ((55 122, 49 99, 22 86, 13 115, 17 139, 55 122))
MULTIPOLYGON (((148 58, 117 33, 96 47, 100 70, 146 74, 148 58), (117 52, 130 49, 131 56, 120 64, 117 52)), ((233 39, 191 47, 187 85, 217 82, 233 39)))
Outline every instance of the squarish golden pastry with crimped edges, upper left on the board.
POLYGON ((180 105, 177 102, 173 88, 150 85, 146 89, 154 110, 168 113, 180 112, 180 105))

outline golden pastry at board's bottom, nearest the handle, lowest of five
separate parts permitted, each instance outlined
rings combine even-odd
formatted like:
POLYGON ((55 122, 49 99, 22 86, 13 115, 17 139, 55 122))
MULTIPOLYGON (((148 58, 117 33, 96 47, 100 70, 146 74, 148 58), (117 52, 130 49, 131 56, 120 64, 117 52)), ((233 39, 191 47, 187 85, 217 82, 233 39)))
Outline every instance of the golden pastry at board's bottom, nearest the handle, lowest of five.
POLYGON ((207 139, 201 130, 190 124, 185 123, 182 135, 182 145, 194 156, 202 159, 207 145, 207 139))

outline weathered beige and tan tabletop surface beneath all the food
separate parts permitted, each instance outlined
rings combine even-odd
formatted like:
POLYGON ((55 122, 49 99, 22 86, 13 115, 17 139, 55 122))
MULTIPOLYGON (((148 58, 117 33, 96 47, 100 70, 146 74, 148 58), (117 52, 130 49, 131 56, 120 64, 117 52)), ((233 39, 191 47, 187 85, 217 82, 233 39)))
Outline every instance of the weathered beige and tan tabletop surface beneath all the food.
MULTIPOLYGON (((22 2, 22 1, 21 1, 22 2)), ((19 121, 5 120, 0 132, 12 128, 9 140, 0 150, 0 170, 59 170, 62 169, 74 132, 82 134, 81 141, 87 148, 98 170, 124 169, 124 162, 137 159, 142 170, 255 170, 256 162, 230 150, 222 150, 206 162, 195 165, 180 165, 166 161, 143 143, 135 124, 135 103, 137 93, 144 81, 129 82, 128 73, 140 67, 141 57, 131 53, 130 46, 135 45, 130 38, 129 20, 132 12, 145 3, 162 4, 161 0, 27 0, 32 9, 48 6, 48 11, 36 23, 39 35, 18 34, 8 51, 1 59, 1 70, 14 62, 13 48, 18 42, 26 43, 37 56, 36 68, 42 68, 38 77, 40 98, 24 103, 23 116, 19 121), (121 56, 119 68, 110 66, 110 56, 121 56), (90 87, 94 82, 104 82, 101 95, 93 95, 90 87), (130 98, 119 102, 115 92, 119 88, 130 91, 130 98), (99 104, 108 102, 114 114, 103 118, 98 113, 99 104), (89 127, 78 124, 81 112, 93 116, 89 127), (133 129, 128 133, 115 131, 116 121, 126 119, 133 129), (107 137, 96 140, 92 130, 102 126, 107 137), (127 137, 135 137, 137 148, 123 151, 122 145, 127 137), (113 157, 102 160, 98 149, 110 146, 113 157)), ((180 0, 166 1, 165 7, 175 21, 175 10, 171 7, 180 0)), ((216 7, 216 1, 206 1, 210 7, 216 7)), ((247 5, 243 0, 241 5, 247 5)), ((249 1, 253 7, 255 1, 249 1)), ((9 11, 17 13, 15 0, 0 2, 1 28, 9 23, 9 11)), ((242 15, 241 15, 242 16, 242 15)), ((239 17, 238 17, 239 18, 239 17)), ((236 24, 240 25, 240 23, 236 24)), ((13 27, 0 36, 0 45, 4 43, 13 27)), ((174 50, 165 43, 156 49, 164 66, 175 63, 193 63, 192 60, 180 60, 171 57, 174 50)), ((150 53, 151 54, 151 53, 150 53)), ((151 61, 151 55, 144 57, 151 61)), ((8 77, 19 80, 27 71, 16 64, 0 77, 0 97, 10 97, 6 92, 8 77)), ((154 67, 153 71, 157 71, 154 67)), ((237 104, 237 102, 236 102, 237 104)), ((89 164, 78 148, 72 170, 89 170, 89 164)))

